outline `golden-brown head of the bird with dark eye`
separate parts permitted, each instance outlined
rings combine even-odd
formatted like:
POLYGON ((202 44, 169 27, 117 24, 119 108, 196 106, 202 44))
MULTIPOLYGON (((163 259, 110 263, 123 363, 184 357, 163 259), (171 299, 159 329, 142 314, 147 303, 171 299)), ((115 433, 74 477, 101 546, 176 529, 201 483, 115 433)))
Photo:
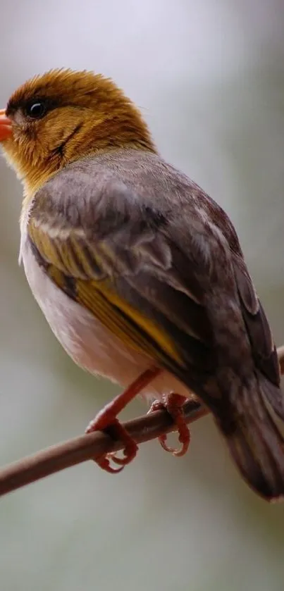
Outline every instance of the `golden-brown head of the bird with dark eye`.
POLYGON ((14 92, 5 114, 0 141, 28 194, 70 161, 97 151, 155 151, 140 112, 100 74, 51 70, 36 76, 14 92))

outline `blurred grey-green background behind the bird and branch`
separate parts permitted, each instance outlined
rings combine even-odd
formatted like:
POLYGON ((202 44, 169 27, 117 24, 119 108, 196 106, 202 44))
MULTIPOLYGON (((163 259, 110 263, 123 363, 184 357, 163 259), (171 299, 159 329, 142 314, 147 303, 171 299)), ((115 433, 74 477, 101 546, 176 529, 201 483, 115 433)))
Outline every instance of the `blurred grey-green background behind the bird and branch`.
MULTIPOLYGON (((52 67, 109 75, 165 158, 229 213, 284 342, 284 4, 9 0, 1 106, 52 67)), ((18 267, 21 187, 0 160, 0 462, 79 435, 118 390, 75 367, 18 267)), ((132 404, 125 418, 144 413, 132 404)), ((242 483, 211 418, 184 459, 144 444, 118 476, 91 462, 0 502, 3 591, 280 591, 284 505, 242 483)))

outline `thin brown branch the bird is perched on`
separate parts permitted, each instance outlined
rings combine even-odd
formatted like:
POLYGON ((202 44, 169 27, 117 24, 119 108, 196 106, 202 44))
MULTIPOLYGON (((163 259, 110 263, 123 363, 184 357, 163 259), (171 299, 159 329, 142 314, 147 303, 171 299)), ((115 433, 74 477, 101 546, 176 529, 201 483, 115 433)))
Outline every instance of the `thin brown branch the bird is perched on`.
MULTIPOLYGON (((284 346, 279 347, 277 352, 281 373, 284 374, 284 346)), ((208 412, 202 404, 193 400, 186 402, 184 409, 187 423, 197 421, 208 412)), ((170 433, 175 429, 175 425, 166 411, 156 411, 135 418, 133 421, 124 423, 124 426, 137 443, 155 439, 159 435, 170 433)), ((100 432, 82 435, 54 445, 2 468, 0 471, 0 496, 33 483, 35 480, 75 466, 75 464, 94 459, 106 452, 116 452, 118 449, 121 449, 119 441, 113 442, 108 435, 100 432)))

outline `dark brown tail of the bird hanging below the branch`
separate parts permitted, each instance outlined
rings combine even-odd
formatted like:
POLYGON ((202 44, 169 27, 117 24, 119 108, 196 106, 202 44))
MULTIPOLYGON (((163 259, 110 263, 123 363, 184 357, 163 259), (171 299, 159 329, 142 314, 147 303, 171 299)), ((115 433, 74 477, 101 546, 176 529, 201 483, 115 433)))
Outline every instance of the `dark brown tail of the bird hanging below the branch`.
POLYGON ((280 388, 257 373, 247 385, 236 378, 233 390, 229 416, 220 420, 215 413, 230 453, 249 486, 262 497, 284 497, 284 439, 273 416, 284 420, 280 388))

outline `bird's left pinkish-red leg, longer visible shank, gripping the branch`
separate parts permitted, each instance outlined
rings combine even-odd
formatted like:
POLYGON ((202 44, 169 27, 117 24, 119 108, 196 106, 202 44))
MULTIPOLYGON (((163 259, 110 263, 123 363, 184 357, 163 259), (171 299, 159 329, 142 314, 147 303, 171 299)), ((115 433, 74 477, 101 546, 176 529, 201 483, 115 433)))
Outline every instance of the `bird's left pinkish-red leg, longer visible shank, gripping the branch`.
POLYGON ((144 371, 137 380, 132 382, 130 386, 121 394, 118 394, 109 404, 106 404, 97 416, 89 423, 86 429, 86 433, 92 433, 93 431, 104 431, 107 435, 110 435, 112 439, 120 440, 124 444, 123 458, 119 458, 113 453, 104 454, 94 461, 99 464, 101 468, 104 468, 109 473, 121 472, 125 464, 129 464, 137 454, 137 443, 130 437, 127 430, 118 421, 118 413, 120 413, 125 406, 130 402, 141 390, 144 389, 156 376, 161 372, 161 369, 153 367, 144 371), (119 464, 120 468, 112 468, 109 459, 112 459, 116 464, 119 464))

